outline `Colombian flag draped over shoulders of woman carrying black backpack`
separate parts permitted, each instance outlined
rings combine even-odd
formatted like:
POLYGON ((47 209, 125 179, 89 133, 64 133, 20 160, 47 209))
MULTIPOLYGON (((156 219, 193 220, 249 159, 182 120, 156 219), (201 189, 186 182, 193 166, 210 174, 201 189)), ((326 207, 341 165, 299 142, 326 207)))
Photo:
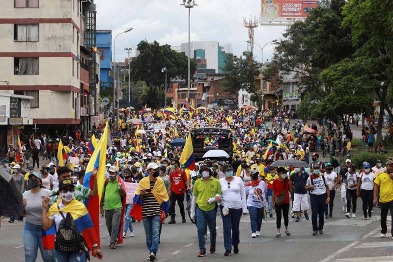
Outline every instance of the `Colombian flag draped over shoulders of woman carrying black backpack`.
MULTIPOLYGON (((48 217, 53 216, 60 211, 64 213, 70 213, 75 221, 76 227, 78 228, 79 232, 82 233, 87 245, 91 247, 92 243, 98 242, 98 237, 94 230, 93 222, 91 221, 90 215, 87 212, 84 204, 73 198, 66 206, 58 209, 58 204, 61 200, 62 199, 59 198, 56 204, 53 204, 49 208, 48 217)), ((52 228, 50 228, 49 230, 42 230, 42 243, 45 250, 55 248, 55 235, 55 223, 53 223, 52 228)))

